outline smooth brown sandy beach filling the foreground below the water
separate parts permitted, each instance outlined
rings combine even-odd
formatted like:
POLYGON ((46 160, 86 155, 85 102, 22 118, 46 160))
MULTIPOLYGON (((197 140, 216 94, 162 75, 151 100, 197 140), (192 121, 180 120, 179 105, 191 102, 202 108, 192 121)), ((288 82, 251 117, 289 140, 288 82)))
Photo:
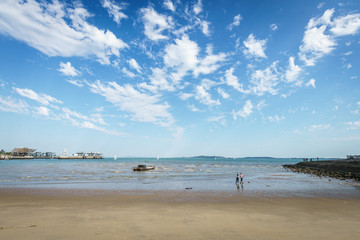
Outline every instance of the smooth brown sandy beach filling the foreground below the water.
POLYGON ((360 200, 0 190, 0 239, 359 239, 360 200))

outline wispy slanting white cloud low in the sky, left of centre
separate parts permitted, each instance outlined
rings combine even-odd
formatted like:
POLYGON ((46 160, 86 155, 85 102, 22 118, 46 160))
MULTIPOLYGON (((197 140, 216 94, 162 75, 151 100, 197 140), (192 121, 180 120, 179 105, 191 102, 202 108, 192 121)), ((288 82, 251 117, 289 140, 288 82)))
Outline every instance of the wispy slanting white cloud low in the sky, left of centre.
POLYGON ((151 122, 164 127, 172 127, 174 124, 173 116, 168 112, 170 106, 168 103, 160 103, 160 95, 142 93, 129 84, 120 86, 116 82, 103 84, 97 80, 88 84, 92 92, 104 96, 120 110, 130 112, 134 121, 151 122))

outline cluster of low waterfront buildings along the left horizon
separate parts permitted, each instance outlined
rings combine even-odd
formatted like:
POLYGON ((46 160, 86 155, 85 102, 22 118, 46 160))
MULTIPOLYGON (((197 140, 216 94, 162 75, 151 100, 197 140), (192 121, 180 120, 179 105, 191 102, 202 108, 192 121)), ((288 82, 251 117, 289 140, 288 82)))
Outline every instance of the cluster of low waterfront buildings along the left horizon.
POLYGON ((22 147, 14 148, 11 152, 0 151, 0 159, 103 159, 104 156, 99 152, 78 152, 68 155, 64 150, 63 154, 57 156, 54 152, 36 152, 36 149, 22 147))

